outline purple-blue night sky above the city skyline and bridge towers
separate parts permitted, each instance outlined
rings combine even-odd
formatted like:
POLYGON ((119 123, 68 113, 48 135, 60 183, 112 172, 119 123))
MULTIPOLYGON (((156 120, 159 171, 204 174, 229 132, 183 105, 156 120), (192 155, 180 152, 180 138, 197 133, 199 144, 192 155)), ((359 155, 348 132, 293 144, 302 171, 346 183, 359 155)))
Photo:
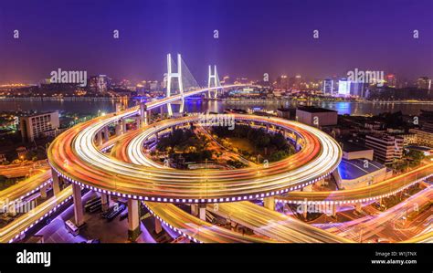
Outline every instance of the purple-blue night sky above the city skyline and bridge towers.
POLYGON ((208 64, 250 79, 354 68, 432 78, 432 10, 433 0, 2 0, 0 83, 37 82, 57 68, 161 80, 168 52, 182 53, 200 83, 208 64))

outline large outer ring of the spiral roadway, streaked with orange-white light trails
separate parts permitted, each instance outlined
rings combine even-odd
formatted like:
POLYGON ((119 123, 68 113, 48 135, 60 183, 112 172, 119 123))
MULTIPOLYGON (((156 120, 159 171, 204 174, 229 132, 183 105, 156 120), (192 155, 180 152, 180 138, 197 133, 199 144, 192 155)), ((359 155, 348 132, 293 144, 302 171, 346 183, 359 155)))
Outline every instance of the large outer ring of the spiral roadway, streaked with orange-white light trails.
MULTIPOLYGON (((163 100, 168 101, 167 98, 163 100)), ((148 109, 156 107, 155 105, 161 106, 163 102, 153 101, 149 103, 148 109)), ((268 169, 261 167, 216 173, 210 170, 196 172, 143 168, 106 158, 93 142, 95 135, 105 126, 120 118, 135 115, 137 111, 138 108, 132 108, 99 117, 62 133, 48 149, 49 162, 70 182, 108 194, 154 202, 216 203, 251 200, 301 189, 333 172, 341 159, 338 143, 320 130, 294 121, 241 115, 238 116, 239 119, 250 119, 297 131, 304 142, 302 150, 306 164, 291 173, 287 172, 290 169, 289 161, 272 164, 268 169)), ((188 118, 191 117, 185 117, 188 118)), ((146 127, 147 132, 154 133, 164 129, 164 126, 173 126, 175 121, 152 124, 146 127)))

